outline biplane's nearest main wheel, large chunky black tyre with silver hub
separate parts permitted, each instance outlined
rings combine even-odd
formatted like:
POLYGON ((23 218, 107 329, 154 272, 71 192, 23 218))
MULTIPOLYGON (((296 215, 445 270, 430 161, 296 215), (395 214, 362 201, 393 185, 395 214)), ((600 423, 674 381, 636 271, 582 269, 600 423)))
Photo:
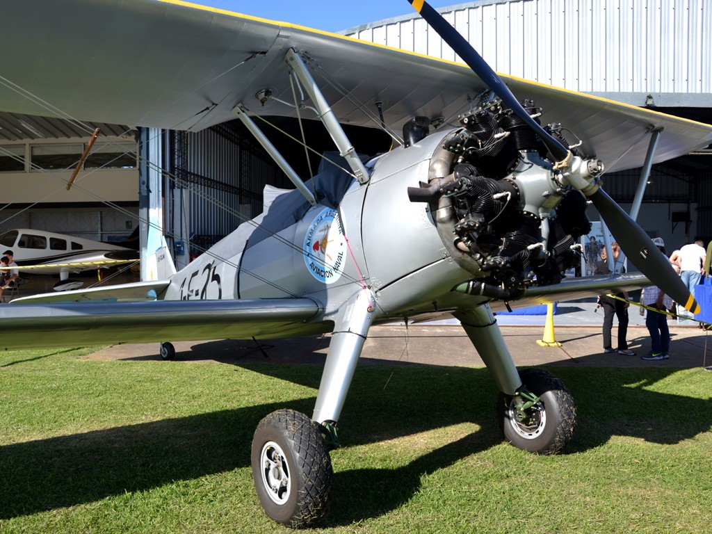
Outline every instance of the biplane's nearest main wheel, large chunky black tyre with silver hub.
POLYGON ((252 476, 265 513, 304 528, 328 511, 334 472, 319 426, 290 409, 261 420, 252 440, 252 476))

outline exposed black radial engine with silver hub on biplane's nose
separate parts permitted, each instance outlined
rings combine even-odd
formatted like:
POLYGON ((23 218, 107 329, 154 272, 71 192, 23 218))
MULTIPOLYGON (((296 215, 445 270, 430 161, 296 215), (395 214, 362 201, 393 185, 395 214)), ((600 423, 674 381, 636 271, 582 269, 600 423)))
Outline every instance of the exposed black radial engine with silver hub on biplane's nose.
MULTIPOLYGON (((540 122, 533 101, 522 104, 540 122)), ((410 199, 429 202, 446 248, 480 290, 501 288, 492 296, 506 298, 560 282, 580 261, 580 236, 591 230, 581 190, 597 189, 602 162, 580 157, 555 123, 545 130, 574 159, 557 169, 535 132, 498 100, 459 122, 431 159, 429 183, 409 188, 410 199)))

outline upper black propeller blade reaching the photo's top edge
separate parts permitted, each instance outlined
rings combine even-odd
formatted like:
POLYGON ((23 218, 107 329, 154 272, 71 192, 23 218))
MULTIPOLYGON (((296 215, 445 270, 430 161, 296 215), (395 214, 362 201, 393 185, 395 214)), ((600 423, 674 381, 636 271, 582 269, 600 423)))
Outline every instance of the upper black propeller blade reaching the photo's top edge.
POLYGON ((455 53, 467 63, 473 72, 488 85, 494 94, 502 99, 502 102, 507 105, 518 117, 526 122, 541 138, 547 150, 554 157, 556 162, 565 161, 570 152, 559 140, 552 137, 546 130, 536 122, 531 115, 526 112, 519 101, 512 94, 511 90, 504 84, 502 79, 492 68, 483 60, 477 51, 472 48, 470 43, 460 35, 460 33, 450 26, 450 23, 443 19, 435 9, 433 9, 424 0, 408 0, 420 16, 433 28, 443 41, 455 51, 455 53))

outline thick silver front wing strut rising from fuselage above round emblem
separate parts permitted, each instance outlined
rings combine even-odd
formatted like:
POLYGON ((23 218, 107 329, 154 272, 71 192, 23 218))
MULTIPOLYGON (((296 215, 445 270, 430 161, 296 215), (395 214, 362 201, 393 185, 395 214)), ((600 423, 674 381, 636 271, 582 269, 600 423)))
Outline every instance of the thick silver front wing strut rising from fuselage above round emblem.
POLYGON ((344 130, 339 124, 339 121, 334 115, 334 112, 331 110, 329 104, 324 98, 324 95, 321 93, 318 85, 316 85, 314 78, 312 78, 307 66, 304 64, 304 61, 302 61, 302 58, 300 58, 299 54, 296 53, 293 48, 290 48, 287 51, 285 61, 287 62, 287 65, 294 70, 304 89, 307 93, 309 93, 312 102, 319 111, 319 118, 321 122, 324 123, 324 126, 328 130, 329 135, 331 135, 331 138, 334 140, 342 157, 345 157, 346 162, 354 172, 356 179, 360 184, 366 184, 371 178, 366 170, 366 167, 364 167, 363 162, 360 157, 358 157, 356 150, 351 144, 349 138, 346 136, 344 130))

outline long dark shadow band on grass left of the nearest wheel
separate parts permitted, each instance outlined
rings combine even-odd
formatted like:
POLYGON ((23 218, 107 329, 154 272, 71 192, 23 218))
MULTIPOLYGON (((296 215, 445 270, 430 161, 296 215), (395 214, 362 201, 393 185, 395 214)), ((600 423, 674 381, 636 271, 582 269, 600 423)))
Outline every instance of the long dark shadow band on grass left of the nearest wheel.
MULTIPOLYGON (((313 402, 291 407, 307 411, 313 402)), ((260 404, 2 446, 0 519, 248 466, 256 425, 280 407, 260 404)))

